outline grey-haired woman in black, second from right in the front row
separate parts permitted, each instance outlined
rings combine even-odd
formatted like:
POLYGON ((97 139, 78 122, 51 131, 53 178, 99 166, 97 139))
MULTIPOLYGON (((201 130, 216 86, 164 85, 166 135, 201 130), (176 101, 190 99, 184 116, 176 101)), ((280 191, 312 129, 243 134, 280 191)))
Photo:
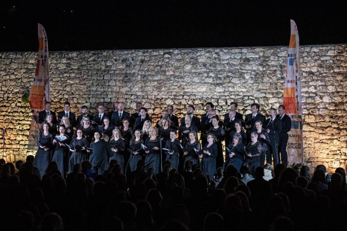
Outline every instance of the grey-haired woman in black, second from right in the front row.
POLYGON ((239 133, 234 134, 232 143, 230 143, 227 148, 230 151, 225 155, 226 160, 223 164, 223 168, 233 165, 237 171, 240 172, 244 160, 243 150, 245 150, 245 146, 242 144, 242 137, 239 133))

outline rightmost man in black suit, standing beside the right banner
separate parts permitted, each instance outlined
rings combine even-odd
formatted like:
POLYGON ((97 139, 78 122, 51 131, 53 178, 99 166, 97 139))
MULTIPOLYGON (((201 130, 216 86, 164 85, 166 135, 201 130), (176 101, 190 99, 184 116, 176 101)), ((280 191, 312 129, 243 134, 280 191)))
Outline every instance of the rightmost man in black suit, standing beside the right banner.
MULTIPOLYGON (((281 163, 288 166, 288 153, 287 153, 287 143, 288 143, 288 132, 291 129, 291 119, 286 114, 286 108, 283 105, 278 107, 277 118, 282 121, 282 130, 280 132, 280 140, 278 143, 278 155, 281 153, 281 163)), ((279 156, 278 156, 279 159, 279 156)))

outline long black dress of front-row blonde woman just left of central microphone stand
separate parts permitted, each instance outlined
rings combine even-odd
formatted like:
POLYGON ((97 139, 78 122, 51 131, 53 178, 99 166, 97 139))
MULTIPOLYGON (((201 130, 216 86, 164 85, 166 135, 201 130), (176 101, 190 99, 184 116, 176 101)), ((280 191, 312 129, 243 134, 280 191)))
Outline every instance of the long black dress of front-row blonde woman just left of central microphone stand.
POLYGON ((148 169, 153 168, 155 174, 159 174, 160 169, 160 149, 154 150, 154 147, 160 147, 159 146, 159 138, 155 137, 154 140, 151 140, 150 138, 147 138, 145 141, 145 146, 147 148, 150 148, 149 154, 147 154, 145 159, 145 172, 147 172, 148 169))

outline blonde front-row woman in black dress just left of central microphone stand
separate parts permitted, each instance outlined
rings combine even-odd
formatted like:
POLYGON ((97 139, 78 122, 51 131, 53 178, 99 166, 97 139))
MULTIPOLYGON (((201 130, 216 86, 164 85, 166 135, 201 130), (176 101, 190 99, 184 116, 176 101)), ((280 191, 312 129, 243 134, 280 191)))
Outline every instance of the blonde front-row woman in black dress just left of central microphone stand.
POLYGON ((148 169, 153 168, 155 174, 159 174, 160 169, 160 150, 159 150, 159 138, 158 138, 158 129, 156 127, 151 127, 149 129, 149 135, 145 141, 145 146, 149 148, 146 151, 147 156, 145 158, 145 172, 148 169))

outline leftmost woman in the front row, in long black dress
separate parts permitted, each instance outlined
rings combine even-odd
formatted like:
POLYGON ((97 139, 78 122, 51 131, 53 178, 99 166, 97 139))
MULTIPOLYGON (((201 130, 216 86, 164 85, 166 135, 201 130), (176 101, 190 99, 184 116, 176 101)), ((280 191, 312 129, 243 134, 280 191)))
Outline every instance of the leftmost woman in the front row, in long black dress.
POLYGON ((49 125, 46 122, 42 123, 40 133, 37 134, 37 146, 39 149, 36 152, 33 166, 40 171, 41 178, 45 174, 45 170, 51 161, 53 136, 48 132, 49 125), (43 146, 48 143, 49 145, 43 146))

